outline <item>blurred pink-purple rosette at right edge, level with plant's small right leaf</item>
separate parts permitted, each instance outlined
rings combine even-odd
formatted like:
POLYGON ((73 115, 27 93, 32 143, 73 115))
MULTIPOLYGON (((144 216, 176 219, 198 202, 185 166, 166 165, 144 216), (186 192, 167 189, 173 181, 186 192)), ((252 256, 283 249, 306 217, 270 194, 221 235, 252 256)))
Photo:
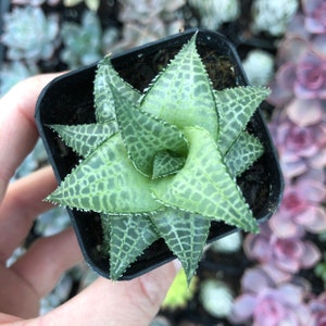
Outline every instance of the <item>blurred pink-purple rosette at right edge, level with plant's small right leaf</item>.
POLYGON ((286 111, 277 111, 269 124, 284 175, 290 178, 310 168, 325 167, 326 122, 321 120, 312 125, 300 126, 286 113, 286 111))

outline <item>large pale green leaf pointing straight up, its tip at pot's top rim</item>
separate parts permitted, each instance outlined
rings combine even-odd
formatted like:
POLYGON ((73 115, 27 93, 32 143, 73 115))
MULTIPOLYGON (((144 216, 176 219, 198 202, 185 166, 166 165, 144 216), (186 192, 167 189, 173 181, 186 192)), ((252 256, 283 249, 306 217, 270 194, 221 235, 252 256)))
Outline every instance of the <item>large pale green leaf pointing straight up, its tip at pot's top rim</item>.
POLYGON ((141 110, 179 128, 203 127, 216 139, 218 117, 215 99, 196 49, 196 35, 153 80, 140 105, 141 110))

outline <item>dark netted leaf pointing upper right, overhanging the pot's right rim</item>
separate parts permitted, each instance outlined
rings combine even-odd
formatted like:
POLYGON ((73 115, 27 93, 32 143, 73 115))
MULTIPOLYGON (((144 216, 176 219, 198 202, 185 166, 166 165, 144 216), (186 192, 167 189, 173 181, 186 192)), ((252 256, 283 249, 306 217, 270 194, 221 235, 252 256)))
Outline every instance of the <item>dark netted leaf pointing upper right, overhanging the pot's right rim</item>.
POLYGON ((236 87, 215 91, 220 115, 218 149, 224 155, 244 130, 259 104, 269 95, 264 87, 236 87))

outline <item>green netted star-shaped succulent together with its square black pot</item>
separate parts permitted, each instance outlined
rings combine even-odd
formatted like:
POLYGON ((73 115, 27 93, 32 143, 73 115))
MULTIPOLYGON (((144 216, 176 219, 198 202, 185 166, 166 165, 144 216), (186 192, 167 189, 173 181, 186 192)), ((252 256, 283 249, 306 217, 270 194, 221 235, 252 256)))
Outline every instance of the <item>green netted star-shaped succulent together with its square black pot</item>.
POLYGON ((256 233, 283 179, 259 104, 226 38, 191 29, 53 80, 36 121, 86 261, 129 279, 256 233), (247 86, 247 87, 246 87, 247 86))

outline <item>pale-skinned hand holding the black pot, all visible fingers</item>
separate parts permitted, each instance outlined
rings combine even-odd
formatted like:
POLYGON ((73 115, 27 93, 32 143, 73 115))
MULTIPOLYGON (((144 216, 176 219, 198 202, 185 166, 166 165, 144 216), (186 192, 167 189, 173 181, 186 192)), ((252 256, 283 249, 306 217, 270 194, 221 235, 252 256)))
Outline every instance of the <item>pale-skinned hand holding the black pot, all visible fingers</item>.
POLYGON ((36 100, 55 76, 28 78, 0 99, 0 325, 149 325, 176 274, 173 263, 130 281, 99 277, 42 316, 38 316, 40 298, 51 291, 64 271, 83 260, 73 229, 35 241, 17 262, 5 267, 36 216, 51 209, 42 201, 57 187, 50 167, 10 185, 9 180, 38 138, 36 100))

